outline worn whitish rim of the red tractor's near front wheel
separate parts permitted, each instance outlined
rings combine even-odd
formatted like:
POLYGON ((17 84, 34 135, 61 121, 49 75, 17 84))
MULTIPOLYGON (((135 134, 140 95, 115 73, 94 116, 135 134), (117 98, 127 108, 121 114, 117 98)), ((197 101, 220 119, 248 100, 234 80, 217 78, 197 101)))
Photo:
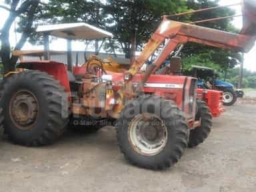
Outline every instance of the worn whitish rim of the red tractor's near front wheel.
POLYGON ((167 127, 157 115, 143 113, 129 125, 129 142, 142 155, 156 155, 167 143, 167 127))

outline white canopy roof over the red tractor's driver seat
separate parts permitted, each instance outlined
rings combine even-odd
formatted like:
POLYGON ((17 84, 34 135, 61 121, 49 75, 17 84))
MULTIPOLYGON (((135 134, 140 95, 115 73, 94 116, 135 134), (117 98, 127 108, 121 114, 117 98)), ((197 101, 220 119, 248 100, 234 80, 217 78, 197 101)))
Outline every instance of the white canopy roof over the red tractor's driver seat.
POLYGON ((49 32, 49 35, 65 39, 101 39, 113 37, 103 29, 99 29, 87 23, 66 23, 57 25, 40 25, 37 32, 49 32))

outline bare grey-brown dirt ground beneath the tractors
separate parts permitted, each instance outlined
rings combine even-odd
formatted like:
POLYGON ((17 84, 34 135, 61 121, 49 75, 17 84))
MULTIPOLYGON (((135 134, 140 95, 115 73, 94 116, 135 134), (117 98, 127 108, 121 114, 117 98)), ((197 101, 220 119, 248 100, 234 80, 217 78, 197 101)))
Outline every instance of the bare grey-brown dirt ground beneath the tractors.
POLYGON ((214 119, 199 147, 167 171, 129 165, 115 129, 68 132, 54 145, 27 148, 0 141, 0 191, 256 191, 256 105, 238 102, 214 119))

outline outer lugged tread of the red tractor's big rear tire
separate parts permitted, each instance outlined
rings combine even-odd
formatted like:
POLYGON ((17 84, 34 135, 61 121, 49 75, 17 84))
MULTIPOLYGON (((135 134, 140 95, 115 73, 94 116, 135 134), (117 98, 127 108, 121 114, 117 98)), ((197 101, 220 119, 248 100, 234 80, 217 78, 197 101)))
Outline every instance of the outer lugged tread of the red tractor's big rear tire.
POLYGON ((7 125, 5 126, 5 133, 9 136, 11 141, 19 145, 39 146, 53 143, 62 135, 68 123, 68 117, 62 117, 62 113, 68 113, 67 103, 65 103, 67 106, 64 106, 64 108, 67 109, 63 109, 63 101, 68 102, 68 94, 64 91, 64 87, 56 81, 52 75, 48 75, 42 71, 28 70, 17 73, 3 80, 0 87, 0 96, 4 95, 7 87, 10 87, 13 81, 17 78, 29 78, 31 81, 36 81, 40 85, 41 89, 43 89, 43 93, 45 93, 45 97, 49 103, 47 126, 45 126, 44 130, 41 131, 41 135, 31 138, 29 141, 23 141, 22 139, 13 137, 9 134, 7 125), (61 96, 61 98, 64 97, 64 99, 60 99, 59 96, 61 96))

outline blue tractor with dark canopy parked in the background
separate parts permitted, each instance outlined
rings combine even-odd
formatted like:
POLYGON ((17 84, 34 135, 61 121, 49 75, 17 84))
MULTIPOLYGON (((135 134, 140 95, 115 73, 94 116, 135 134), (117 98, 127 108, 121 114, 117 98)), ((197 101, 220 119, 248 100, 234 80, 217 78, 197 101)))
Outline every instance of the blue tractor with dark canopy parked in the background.
POLYGON ((218 80, 217 74, 212 68, 193 65, 192 73, 193 77, 198 79, 199 88, 223 91, 224 105, 233 105, 237 101, 237 97, 244 95, 242 90, 235 91, 235 86, 231 83, 218 80))

